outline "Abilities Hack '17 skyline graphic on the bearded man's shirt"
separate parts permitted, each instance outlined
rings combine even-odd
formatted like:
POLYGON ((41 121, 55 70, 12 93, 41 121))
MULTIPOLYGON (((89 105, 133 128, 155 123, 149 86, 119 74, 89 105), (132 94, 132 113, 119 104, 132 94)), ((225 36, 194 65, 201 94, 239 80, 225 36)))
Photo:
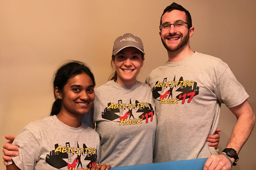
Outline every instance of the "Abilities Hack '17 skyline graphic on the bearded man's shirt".
POLYGON ((199 87, 197 82, 184 81, 183 77, 180 77, 178 81, 175 81, 175 77, 171 81, 166 77, 162 82, 155 83, 152 94, 154 99, 160 101, 160 104, 178 104, 178 101, 184 104, 190 103, 193 97, 199 94, 199 87))

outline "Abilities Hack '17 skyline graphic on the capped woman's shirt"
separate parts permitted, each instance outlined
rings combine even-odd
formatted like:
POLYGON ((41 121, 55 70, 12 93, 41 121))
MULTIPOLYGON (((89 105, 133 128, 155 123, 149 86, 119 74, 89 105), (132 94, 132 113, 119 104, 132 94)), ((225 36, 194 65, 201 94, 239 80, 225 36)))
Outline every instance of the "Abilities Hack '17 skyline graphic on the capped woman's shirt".
POLYGON ((118 103, 108 103, 108 106, 102 111, 102 118, 113 122, 119 122, 119 125, 137 125, 143 122, 153 121, 154 109, 151 103, 139 102, 123 103, 122 99, 118 103), (139 113, 139 114, 138 114, 139 113), (134 116, 135 115, 135 116, 134 116), (145 120, 145 121, 144 121, 145 120))

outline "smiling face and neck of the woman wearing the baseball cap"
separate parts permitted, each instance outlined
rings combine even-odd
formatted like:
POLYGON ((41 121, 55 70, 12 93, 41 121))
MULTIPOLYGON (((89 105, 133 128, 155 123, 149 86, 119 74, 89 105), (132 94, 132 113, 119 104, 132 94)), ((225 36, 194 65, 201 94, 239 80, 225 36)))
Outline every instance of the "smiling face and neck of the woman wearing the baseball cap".
POLYGON ((134 85, 136 77, 143 67, 144 57, 142 58, 140 50, 134 47, 127 47, 116 54, 112 64, 116 68, 117 79, 119 85, 134 85))

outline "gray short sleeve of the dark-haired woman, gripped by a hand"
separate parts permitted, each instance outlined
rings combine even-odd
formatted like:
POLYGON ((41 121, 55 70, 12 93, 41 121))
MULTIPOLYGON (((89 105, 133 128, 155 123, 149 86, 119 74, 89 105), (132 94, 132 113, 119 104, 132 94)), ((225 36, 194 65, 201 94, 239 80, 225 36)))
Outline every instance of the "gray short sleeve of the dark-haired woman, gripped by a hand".
MULTIPOLYGON (((35 136, 29 130, 23 128, 13 144, 19 147, 19 156, 12 158, 15 165, 21 170, 34 170, 39 150, 39 144, 35 136)), ((12 164, 12 162, 8 162, 8 164, 12 164)))

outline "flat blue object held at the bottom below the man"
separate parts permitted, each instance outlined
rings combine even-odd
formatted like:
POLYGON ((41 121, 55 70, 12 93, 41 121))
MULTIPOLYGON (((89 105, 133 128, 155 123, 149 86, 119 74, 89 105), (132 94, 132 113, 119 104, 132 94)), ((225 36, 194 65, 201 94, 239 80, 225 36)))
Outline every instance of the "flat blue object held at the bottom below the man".
POLYGON ((203 170, 207 158, 111 167, 110 170, 203 170))

